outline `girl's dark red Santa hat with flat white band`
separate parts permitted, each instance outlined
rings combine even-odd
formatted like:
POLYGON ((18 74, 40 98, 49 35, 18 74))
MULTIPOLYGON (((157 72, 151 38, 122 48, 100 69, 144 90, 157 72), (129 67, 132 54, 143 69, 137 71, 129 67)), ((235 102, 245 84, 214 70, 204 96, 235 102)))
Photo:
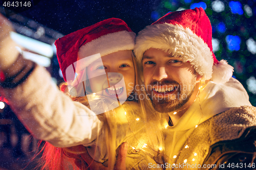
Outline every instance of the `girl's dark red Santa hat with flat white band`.
POLYGON ((135 37, 136 34, 123 20, 110 18, 57 39, 54 44, 63 79, 67 81, 67 74, 74 79, 75 71, 66 72, 66 69, 71 65, 76 68, 74 63, 77 60, 94 55, 83 60, 86 62, 81 65, 86 67, 100 56, 133 50, 135 37), (95 55, 98 53, 100 55, 95 55))

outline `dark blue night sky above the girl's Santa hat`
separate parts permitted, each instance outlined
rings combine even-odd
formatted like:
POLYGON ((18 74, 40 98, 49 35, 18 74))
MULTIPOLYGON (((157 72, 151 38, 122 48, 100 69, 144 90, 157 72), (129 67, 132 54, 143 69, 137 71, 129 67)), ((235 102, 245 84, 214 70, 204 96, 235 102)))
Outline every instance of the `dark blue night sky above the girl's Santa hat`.
POLYGON ((64 35, 111 17, 123 19, 134 32, 138 33, 153 22, 151 12, 160 2, 160 0, 41 0, 36 6, 20 14, 64 35))

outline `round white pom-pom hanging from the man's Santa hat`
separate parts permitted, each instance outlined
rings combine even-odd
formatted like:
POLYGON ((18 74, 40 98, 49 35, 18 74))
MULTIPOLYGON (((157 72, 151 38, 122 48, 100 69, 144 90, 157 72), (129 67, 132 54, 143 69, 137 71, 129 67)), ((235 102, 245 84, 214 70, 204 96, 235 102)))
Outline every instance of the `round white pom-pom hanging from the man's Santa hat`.
POLYGON ((226 60, 221 60, 218 64, 214 64, 212 71, 211 80, 218 84, 224 84, 232 77, 234 68, 226 60))

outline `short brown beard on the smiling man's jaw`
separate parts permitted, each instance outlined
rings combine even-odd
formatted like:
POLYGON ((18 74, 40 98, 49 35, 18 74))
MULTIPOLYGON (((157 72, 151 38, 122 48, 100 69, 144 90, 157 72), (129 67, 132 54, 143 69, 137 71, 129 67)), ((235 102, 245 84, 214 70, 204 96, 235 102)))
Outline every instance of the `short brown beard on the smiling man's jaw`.
MULTIPOLYGON (((172 83, 178 84, 177 82, 173 82, 173 81, 172 82, 165 81, 164 83, 160 83, 160 84, 170 85, 172 83)), ((169 95, 168 98, 159 99, 157 97, 154 97, 153 90, 150 90, 150 89, 147 89, 147 94, 149 95, 152 101, 152 105, 156 111, 160 113, 169 113, 177 109, 180 109, 190 99, 196 87, 195 81, 192 81, 191 83, 194 84, 194 87, 191 91, 182 90, 182 87, 178 85, 178 88, 176 89, 177 93, 169 95)), ((152 84, 156 84, 156 83, 152 83, 152 84)))

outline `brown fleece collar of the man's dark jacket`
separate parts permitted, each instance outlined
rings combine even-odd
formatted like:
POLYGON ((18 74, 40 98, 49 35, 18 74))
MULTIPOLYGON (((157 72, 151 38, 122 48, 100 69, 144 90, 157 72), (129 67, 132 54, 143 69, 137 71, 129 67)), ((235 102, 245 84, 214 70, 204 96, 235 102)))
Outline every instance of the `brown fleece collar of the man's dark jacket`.
POLYGON ((231 108, 206 120, 189 135, 189 139, 180 151, 176 164, 183 164, 184 160, 187 160, 186 165, 175 169, 196 169, 189 168, 188 164, 203 167, 202 164, 211 145, 219 141, 237 139, 241 137, 246 128, 252 126, 256 126, 256 108, 253 106, 231 108), (186 145, 188 148, 185 148, 186 145))

